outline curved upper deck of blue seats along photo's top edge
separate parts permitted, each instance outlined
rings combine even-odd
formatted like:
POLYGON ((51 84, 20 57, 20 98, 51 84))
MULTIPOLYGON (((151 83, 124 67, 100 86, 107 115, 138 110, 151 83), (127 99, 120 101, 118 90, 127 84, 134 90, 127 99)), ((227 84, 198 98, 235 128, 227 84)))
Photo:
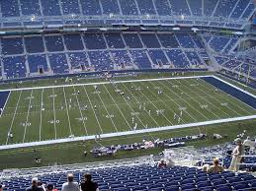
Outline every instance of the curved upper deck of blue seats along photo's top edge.
POLYGON ((251 0, 10 0, 0 2, 0 7, 3 19, 15 18, 14 21, 3 21, 1 25, 4 27, 123 22, 148 24, 159 20, 162 24, 170 24, 177 20, 183 24, 240 29, 254 11, 251 0))

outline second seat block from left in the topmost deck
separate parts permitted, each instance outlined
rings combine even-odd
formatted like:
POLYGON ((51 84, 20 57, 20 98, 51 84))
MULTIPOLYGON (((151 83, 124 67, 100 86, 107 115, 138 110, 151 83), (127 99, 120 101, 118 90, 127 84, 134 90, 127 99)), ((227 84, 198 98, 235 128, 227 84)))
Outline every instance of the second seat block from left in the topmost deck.
POLYGON ((39 0, 20 0, 21 10, 23 15, 41 16, 39 0))

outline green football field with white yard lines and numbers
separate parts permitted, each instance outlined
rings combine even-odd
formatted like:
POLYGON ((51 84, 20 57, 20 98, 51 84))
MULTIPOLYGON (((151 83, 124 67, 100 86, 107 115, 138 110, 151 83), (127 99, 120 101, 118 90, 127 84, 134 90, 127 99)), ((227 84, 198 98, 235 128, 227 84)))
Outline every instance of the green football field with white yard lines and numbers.
POLYGON ((255 109, 194 77, 13 90, 0 117, 0 145, 251 115, 255 109))

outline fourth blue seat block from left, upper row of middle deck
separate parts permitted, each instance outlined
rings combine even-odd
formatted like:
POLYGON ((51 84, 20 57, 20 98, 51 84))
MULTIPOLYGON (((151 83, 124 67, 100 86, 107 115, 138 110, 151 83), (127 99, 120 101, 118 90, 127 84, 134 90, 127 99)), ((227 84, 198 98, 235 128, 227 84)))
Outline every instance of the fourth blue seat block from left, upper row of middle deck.
POLYGON ((84 49, 83 41, 80 33, 64 34, 64 42, 67 50, 82 50, 84 49))

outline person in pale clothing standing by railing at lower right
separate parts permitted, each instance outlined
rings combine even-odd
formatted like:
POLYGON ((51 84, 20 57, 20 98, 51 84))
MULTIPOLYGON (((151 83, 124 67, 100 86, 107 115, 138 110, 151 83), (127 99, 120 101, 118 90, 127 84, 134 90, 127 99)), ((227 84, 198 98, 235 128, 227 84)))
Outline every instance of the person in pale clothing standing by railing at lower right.
POLYGON ((244 146, 240 138, 235 139, 236 147, 232 152, 232 160, 229 166, 229 170, 238 171, 242 156, 244 155, 244 146))

